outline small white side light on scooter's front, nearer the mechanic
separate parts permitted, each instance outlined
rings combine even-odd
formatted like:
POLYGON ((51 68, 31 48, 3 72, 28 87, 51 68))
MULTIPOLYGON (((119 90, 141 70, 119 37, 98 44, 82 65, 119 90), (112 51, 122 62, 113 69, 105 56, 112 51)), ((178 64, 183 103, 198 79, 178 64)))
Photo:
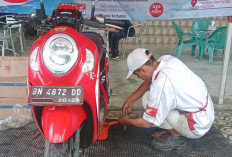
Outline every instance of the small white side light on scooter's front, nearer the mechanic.
POLYGON ((89 49, 85 49, 86 52, 86 60, 82 67, 82 73, 87 73, 94 68, 94 55, 89 49))

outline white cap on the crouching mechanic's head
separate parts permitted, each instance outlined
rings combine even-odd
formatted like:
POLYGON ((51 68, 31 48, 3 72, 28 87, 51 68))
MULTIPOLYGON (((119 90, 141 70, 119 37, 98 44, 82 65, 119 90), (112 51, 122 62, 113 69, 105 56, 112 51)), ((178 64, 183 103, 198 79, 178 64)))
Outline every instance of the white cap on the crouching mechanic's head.
POLYGON ((152 53, 144 48, 137 48, 132 51, 127 57, 127 66, 129 72, 126 79, 128 79, 135 70, 140 68, 144 63, 146 63, 151 57, 152 53))

